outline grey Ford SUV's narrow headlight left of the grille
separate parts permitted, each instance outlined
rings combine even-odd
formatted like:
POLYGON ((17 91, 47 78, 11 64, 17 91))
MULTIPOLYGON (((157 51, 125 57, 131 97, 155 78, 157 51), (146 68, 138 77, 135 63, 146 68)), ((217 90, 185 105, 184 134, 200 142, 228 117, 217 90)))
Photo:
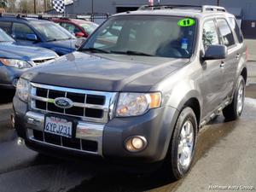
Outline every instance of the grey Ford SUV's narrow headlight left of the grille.
POLYGON ((20 78, 16 87, 16 95, 19 96, 20 100, 23 102, 28 102, 30 96, 30 82, 26 79, 20 78))

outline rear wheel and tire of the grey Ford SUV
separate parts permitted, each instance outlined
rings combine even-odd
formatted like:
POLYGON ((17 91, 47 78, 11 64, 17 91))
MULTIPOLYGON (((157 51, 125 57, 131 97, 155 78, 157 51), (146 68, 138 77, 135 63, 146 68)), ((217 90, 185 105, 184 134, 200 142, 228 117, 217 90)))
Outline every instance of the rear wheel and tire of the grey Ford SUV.
POLYGON ((240 76, 236 84, 233 101, 223 110, 225 119, 236 120, 241 116, 244 107, 245 88, 245 80, 240 76))

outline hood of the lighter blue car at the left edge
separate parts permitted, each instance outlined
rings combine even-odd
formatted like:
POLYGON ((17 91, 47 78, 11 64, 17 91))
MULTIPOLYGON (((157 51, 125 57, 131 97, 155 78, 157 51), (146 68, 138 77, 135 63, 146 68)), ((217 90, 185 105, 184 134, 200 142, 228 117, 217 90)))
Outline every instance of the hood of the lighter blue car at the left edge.
POLYGON ((34 61, 46 58, 55 58, 54 51, 38 47, 29 47, 14 43, 0 43, 0 57, 34 61))

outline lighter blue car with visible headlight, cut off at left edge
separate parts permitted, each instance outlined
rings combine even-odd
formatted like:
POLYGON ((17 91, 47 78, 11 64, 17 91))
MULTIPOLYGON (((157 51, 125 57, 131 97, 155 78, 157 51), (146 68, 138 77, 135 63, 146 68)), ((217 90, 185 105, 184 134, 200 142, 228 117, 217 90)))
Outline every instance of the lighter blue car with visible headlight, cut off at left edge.
POLYGON ((57 57, 49 49, 17 45, 15 39, 0 29, 0 88, 15 89, 20 75, 28 68, 57 57))

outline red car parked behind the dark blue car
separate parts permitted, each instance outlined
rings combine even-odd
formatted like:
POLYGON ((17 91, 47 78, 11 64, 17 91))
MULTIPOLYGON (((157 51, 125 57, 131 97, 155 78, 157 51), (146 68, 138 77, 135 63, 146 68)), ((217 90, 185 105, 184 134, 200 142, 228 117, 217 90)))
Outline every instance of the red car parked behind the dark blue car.
POLYGON ((60 24, 67 29, 68 32, 73 33, 77 38, 88 38, 98 27, 96 23, 88 20, 66 18, 52 18, 51 20, 60 24))

